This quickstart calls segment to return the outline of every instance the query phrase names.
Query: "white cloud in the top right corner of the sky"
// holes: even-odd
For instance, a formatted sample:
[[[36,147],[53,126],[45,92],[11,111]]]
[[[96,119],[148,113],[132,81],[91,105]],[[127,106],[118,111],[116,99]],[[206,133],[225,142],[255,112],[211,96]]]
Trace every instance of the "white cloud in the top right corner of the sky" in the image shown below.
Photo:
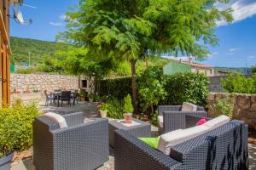
[[[219,9],[232,8],[234,10],[234,21],[238,22],[252,17],[256,14],[256,1],[255,0],[231,0],[229,4],[216,4]],[[217,22],[218,26],[225,26],[227,23],[224,20]]]

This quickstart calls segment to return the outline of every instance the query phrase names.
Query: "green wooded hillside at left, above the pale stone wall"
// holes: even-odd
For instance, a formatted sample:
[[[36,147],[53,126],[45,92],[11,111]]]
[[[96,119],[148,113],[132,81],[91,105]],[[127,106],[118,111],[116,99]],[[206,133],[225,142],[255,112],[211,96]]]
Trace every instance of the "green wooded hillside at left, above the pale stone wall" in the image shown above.
[[[57,49],[55,42],[20,37],[10,37],[10,46],[12,49],[11,63],[16,65],[28,62],[29,54],[31,64],[37,65],[45,55],[55,56]]]

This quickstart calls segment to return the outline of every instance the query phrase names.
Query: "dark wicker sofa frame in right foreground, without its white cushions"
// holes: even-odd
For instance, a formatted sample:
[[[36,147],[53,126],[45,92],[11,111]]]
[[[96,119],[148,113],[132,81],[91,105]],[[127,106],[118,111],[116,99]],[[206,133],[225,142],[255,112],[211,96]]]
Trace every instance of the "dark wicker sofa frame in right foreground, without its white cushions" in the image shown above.
[[[191,118],[191,119],[190,119]],[[196,121],[186,116],[186,127]],[[191,120],[191,122],[189,122]],[[233,120],[182,144],[170,156],[123,130],[114,136],[116,170],[247,170],[247,125]]]

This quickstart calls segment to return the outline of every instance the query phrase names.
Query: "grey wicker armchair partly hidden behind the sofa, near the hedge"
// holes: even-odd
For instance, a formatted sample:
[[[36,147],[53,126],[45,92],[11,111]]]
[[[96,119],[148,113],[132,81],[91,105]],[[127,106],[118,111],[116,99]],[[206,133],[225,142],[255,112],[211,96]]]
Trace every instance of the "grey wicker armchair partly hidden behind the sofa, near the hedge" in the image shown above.
[[[158,115],[163,116],[163,127],[159,125],[160,133],[168,133],[179,128],[186,128],[185,116],[195,115],[207,117],[204,107],[197,106],[197,111],[181,111],[182,105],[159,105]]]

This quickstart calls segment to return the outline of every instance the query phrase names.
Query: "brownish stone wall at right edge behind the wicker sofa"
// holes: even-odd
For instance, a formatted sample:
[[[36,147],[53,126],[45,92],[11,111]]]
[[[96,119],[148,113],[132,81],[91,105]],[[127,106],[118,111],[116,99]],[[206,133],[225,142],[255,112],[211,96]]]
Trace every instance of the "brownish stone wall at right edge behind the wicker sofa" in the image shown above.
[[[208,114],[212,116],[212,106],[219,99],[233,97],[235,105],[233,118],[245,121],[249,127],[256,130],[256,94],[222,94],[212,93],[208,96]]]

